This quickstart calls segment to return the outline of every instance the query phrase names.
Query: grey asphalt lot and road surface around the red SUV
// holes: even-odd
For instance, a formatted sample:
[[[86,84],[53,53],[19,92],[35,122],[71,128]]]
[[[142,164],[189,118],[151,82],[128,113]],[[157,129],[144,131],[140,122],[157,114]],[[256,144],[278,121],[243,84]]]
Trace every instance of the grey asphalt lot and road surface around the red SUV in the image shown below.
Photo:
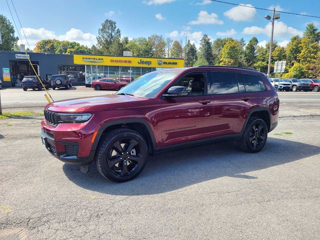
[[[50,92],[57,100],[109,91]],[[3,110],[41,111],[43,93],[2,89]],[[166,152],[125,183],[52,157],[42,116],[0,119],[0,237],[319,239],[320,92],[279,97],[279,124],[261,152],[233,142]]]

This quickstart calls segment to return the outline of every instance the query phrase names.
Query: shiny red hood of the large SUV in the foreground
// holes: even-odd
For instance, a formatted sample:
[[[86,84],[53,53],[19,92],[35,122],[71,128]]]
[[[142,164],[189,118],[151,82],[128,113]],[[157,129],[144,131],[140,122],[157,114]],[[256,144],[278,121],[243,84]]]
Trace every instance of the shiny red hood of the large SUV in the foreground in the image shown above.
[[[94,112],[132,106],[133,102],[146,100],[144,97],[108,94],[54,101],[45,109],[56,112]]]

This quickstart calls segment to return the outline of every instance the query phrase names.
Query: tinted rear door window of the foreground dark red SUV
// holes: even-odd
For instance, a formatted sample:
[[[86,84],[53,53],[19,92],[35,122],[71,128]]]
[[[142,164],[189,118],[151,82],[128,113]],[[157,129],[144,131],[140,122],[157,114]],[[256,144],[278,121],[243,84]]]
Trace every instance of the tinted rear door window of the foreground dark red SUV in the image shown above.
[[[238,93],[238,82],[234,72],[211,71],[208,94]]]

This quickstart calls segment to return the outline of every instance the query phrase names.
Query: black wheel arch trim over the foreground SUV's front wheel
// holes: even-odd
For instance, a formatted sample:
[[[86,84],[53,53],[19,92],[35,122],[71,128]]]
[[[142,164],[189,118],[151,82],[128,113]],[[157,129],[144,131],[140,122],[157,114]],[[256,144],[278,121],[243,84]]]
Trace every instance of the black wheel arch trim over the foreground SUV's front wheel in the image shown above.
[[[91,151],[95,151],[103,134],[107,134],[112,129],[118,127],[127,127],[138,133],[140,133],[146,141],[148,146],[148,153],[153,154],[154,149],[156,149],[156,141],[154,138],[153,131],[147,122],[147,120],[142,118],[128,118],[120,120],[112,120],[104,123],[98,130],[96,137],[92,143]]]

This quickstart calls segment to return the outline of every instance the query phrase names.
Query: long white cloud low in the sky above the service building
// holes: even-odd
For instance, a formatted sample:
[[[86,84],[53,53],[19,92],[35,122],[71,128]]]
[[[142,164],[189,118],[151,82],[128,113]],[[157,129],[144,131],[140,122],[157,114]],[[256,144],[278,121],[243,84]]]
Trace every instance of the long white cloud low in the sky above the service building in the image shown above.
[[[58,40],[68,40],[68,41],[76,41],[80,44],[91,46],[92,44],[96,43],[96,37],[94,34],[91,34],[89,32],[83,33],[80,29],[71,28],[65,34],[57,36],[54,31],[47,30],[43,27],[35,29],[31,27],[23,27],[23,31],[25,33],[25,36],[30,44],[30,48],[33,49],[35,47],[35,43],[39,40],[43,39],[58,39]],[[23,34],[21,29],[21,34]],[[25,44],[25,47],[27,46],[27,43],[24,40],[19,40],[18,44]]]

